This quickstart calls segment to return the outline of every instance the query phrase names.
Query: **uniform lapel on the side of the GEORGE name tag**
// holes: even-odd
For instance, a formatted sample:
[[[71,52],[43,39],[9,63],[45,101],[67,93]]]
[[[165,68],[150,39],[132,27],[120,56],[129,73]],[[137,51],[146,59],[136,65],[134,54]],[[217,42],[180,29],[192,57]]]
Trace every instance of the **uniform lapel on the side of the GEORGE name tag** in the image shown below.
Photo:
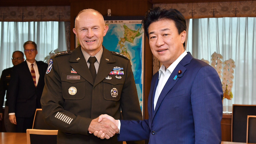
[[[81,46],[74,49],[69,59],[69,62],[73,62],[71,67],[74,68],[80,76],[82,76],[86,81],[93,85],[93,79],[90,70],[84,59],[84,55],[81,51]]]

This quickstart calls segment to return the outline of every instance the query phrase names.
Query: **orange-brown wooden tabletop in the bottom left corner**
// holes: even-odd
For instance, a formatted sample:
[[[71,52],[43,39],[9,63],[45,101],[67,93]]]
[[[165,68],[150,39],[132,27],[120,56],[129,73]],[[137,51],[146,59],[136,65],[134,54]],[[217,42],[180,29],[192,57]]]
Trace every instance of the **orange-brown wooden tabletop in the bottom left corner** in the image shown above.
[[[27,133],[0,132],[0,144],[27,144]]]

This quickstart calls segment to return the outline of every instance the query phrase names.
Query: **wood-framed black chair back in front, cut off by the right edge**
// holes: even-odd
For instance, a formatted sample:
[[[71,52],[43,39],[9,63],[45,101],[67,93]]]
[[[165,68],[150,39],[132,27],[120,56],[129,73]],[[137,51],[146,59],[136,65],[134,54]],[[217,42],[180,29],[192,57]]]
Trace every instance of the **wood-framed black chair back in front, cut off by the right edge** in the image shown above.
[[[256,116],[247,116],[246,143],[256,143]]]

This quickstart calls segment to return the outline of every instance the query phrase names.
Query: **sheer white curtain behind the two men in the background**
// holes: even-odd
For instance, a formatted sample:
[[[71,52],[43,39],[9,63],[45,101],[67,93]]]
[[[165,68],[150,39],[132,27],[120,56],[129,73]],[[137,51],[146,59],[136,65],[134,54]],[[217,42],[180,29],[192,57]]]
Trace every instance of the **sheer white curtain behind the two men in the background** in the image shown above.
[[[12,67],[12,52],[24,53],[23,44],[34,41],[37,45],[37,61],[44,61],[50,52],[66,51],[64,22],[0,22],[0,72]],[[58,49],[58,50],[56,50]],[[25,55],[24,58],[26,59]],[[47,62],[46,62],[47,63]]]

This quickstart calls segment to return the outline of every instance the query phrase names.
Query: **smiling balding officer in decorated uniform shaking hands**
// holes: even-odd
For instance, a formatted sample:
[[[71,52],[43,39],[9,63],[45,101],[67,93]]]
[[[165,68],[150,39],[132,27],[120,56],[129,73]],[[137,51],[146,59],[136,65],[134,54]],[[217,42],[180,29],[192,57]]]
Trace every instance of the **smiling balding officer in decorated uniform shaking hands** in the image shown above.
[[[114,123],[95,119],[102,113],[142,120],[131,62],[102,46],[107,31],[100,12],[79,12],[73,32],[80,46],[50,60],[41,105],[45,122],[59,130],[58,144],[122,144],[117,141]],[[108,130],[111,126],[114,128]],[[108,138],[115,136],[101,140],[90,134],[100,129],[107,130],[103,131]]]

